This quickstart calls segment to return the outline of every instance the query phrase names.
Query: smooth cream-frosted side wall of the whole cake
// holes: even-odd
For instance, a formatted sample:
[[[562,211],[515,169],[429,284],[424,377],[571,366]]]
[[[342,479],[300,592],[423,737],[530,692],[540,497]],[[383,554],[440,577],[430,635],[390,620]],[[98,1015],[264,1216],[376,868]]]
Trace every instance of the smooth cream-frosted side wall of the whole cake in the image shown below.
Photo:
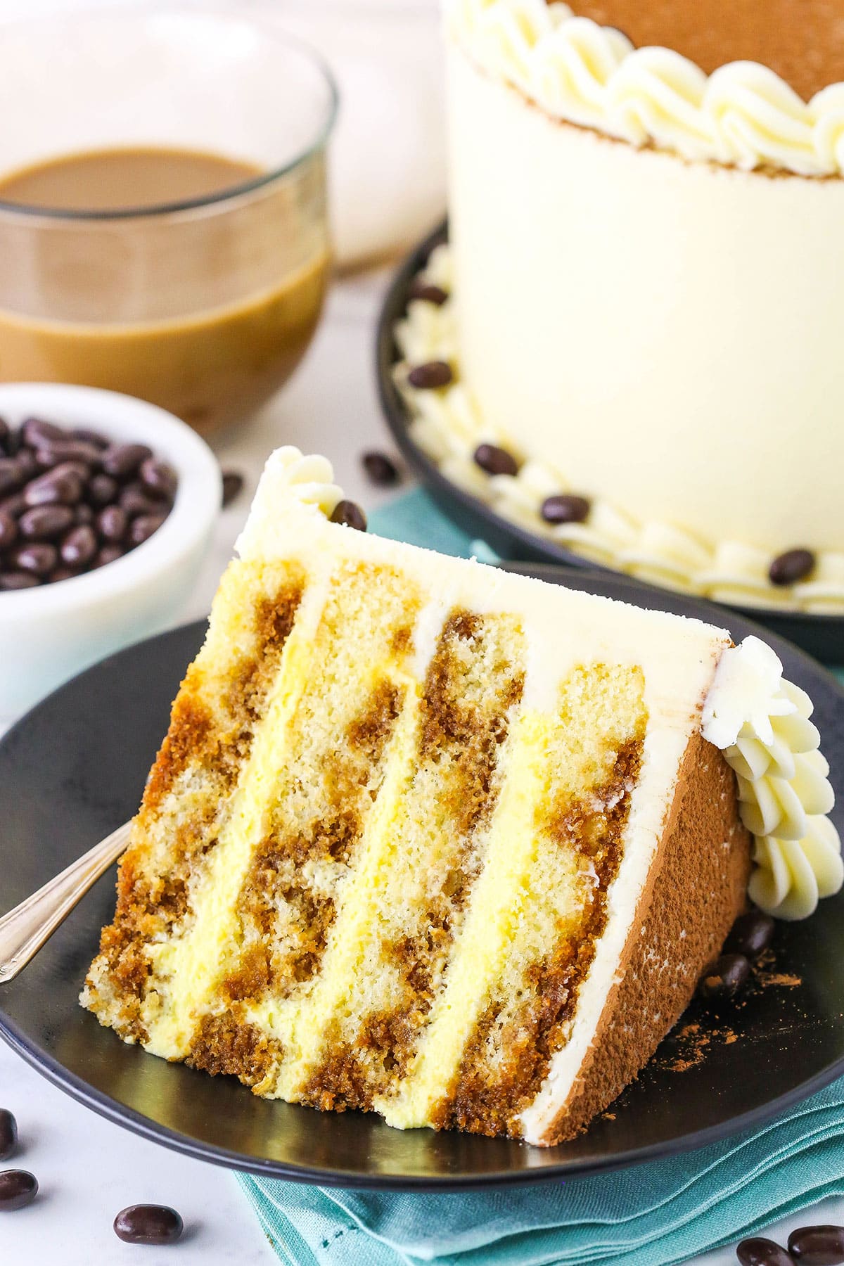
[[[844,182],[638,151],[449,61],[461,370],[490,432],[704,551],[840,558]]]

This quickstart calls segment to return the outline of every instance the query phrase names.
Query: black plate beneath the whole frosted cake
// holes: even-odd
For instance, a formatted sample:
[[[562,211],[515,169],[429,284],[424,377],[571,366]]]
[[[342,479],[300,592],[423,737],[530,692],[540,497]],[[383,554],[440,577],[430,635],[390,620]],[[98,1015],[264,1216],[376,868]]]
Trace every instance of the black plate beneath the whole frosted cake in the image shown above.
[[[407,256],[390,285],[378,318],[376,338],[378,395],[396,446],[449,519],[471,537],[480,537],[488,542],[501,558],[524,562],[554,562],[566,567],[577,567],[581,571],[599,571],[607,576],[624,575],[611,567],[599,567],[573,549],[567,549],[564,546],[529,532],[528,528],[496,514],[485,501],[472,496],[466,489],[447,479],[437,463],[410,438],[407,408],[392,379],[392,368],[399,358],[392,332],[396,322],[404,316],[407,308],[410,282],[424,267],[434,247],[447,239],[448,225],[440,224]],[[630,577],[625,576],[626,579]],[[667,592],[673,592],[673,590],[667,590]],[[755,606],[724,605],[728,610],[738,611],[758,624],[764,624],[772,633],[778,633],[779,637],[796,642],[804,651],[826,663],[844,663],[844,615],[812,615],[804,611],[776,611]]]

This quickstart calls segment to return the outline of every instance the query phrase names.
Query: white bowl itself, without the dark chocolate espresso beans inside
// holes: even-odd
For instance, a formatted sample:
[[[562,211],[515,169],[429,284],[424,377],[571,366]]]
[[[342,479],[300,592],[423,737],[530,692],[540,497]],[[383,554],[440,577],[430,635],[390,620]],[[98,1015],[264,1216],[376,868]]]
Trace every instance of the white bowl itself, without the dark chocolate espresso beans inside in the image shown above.
[[[8,722],[96,660],[173,622],[205,555],[221,479],[213,452],[190,427],[115,391],[3,384],[0,417],[13,429],[39,417],[149,444],[178,475],[173,509],[130,553],[72,580],[0,592],[0,720]]]

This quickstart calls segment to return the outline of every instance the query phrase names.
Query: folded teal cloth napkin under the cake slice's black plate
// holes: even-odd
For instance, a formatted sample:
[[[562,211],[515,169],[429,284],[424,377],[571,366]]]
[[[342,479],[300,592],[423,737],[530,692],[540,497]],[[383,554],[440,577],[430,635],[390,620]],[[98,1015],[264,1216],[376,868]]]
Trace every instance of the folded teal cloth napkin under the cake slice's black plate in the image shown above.
[[[378,536],[483,557],[421,490]],[[289,1266],[671,1266],[844,1195],[844,1077],[755,1132],[617,1174],[456,1194],[238,1179]]]

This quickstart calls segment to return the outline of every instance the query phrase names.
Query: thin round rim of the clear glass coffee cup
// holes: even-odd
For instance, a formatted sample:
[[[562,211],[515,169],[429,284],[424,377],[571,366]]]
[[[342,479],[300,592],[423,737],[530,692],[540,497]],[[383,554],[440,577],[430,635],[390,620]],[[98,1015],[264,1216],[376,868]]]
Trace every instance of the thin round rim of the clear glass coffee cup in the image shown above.
[[[101,18],[108,15],[111,19],[137,20],[138,16],[167,16],[178,15],[180,18],[228,18],[235,22],[247,23],[249,27],[259,29],[262,35],[275,39],[278,44],[287,47],[289,49],[295,49],[297,53],[302,54],[306,61],[314,67],[320,75],[325,89],[328,90],[325,114],[319,127],[316,128],[314,138],[302,147],[297,153],[294,154],[289,162],[282,163],[280,167],[271,167],[267,171],[262,171],[259,175],[251,177],[249,180],[238,181],[234,185],[227,185],[214,194],[204,194],[201,197],[185,197],[171,203],[153,203],[143,206],[119,206],[108,210],[102,209],[86,209],[75,208],[72,210],[57,206],[40,206],[35,203],[8,203],[0,197],[0,214],[4,215],[20,215],[27,219],[46,219],[46,220],[59,220],[59,222],[97,222],[97,220],[129,220],[129,219],[142,219],[142,218],[154,218],[158,215],[173,215],[180,211],[194,211],[202,210],[204,208],[215,206],[218,204],[228,203],[235,197],[240,197],[244,194],[254,192],[263,189],[266,185],[271,185],[273,181],[280,180],[283,176],[289,176],[292,171],[300,167],[302,163],[307,162],[321,149],[325,148],[328,139],[334,129],[337,122],[337,114],[339,109],[340,94],[337,86],[337,78],[334,72],[329,67],[326,60],[315,48],[311,47],[306,41],[300,39],[297,35],[291,35],[285,30],[270,30],[267,25],[261,23],[261,11],[253,10],[248,15],[234,14],[230,10],[218,9],[218,8],[202,8],[197,9],[191,4],[163,4],[163,5],[149,5],[138,8],[125,8],[125,9],[111,9],[104,4],[89,4],[82,10],[73,11],[73,24],[76,25],[80,20],[90,18]],[[48,15],[39,15],[38,18],[20,18],[6,24],[8,30],[22,30],[27,27],[37,25],[54,25],[56,20],[65,18],[63,13],[53,13]],[[118,147],[119,148],[119,147]],[[130,147],[128,147],[130,148]],[[176,147],[164,147],[176,148]],[[25,170],[25,168],[19,168]]]

